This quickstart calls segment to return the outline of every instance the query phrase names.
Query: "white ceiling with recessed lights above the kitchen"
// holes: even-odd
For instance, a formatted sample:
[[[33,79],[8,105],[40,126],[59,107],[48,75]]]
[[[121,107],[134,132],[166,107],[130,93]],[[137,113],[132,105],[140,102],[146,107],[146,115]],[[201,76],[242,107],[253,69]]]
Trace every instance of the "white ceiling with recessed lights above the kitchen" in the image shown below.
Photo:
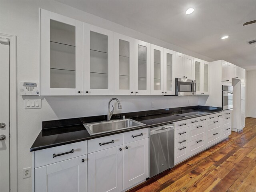
[[[242,26],[256,20],[256,0],[59,2],[204,56],[256,69],[256,44],[247,44],[256,39],[256,23]],[[186,15],[190,7],[195,11]],[[224,35],[229,38],[221,40]]]

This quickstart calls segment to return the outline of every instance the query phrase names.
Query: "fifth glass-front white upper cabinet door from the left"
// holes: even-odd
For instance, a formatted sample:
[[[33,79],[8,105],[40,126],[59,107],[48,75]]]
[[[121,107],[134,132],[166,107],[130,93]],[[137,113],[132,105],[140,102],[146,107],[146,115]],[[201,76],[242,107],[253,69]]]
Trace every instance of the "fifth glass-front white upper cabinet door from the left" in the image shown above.
[[[164,48],[150,45],[150,94],[164,94]]]

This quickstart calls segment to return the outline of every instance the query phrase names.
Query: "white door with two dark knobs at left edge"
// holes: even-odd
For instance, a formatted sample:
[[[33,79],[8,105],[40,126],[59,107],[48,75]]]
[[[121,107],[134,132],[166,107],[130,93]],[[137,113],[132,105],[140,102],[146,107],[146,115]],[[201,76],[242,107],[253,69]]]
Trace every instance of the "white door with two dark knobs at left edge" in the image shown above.
[[[9,41],[0,40],[0,191],[10,191]]]

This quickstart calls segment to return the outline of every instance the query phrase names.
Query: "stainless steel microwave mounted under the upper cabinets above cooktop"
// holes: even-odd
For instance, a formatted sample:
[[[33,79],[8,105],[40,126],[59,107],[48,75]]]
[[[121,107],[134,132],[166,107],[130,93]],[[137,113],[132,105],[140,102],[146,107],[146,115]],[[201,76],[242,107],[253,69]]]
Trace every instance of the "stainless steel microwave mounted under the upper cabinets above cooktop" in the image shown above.
[[[175,78],[175,95],[192,96],[196,95],[196,80]]]

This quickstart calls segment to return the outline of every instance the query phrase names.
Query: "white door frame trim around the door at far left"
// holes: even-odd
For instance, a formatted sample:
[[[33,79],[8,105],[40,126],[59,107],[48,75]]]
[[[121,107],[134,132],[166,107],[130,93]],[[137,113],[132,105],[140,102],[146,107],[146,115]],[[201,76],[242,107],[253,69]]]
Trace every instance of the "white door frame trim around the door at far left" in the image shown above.
[[[17,135],[17,36],[0,33],[10,41],[10,191],[18,191],[18,135]]]

